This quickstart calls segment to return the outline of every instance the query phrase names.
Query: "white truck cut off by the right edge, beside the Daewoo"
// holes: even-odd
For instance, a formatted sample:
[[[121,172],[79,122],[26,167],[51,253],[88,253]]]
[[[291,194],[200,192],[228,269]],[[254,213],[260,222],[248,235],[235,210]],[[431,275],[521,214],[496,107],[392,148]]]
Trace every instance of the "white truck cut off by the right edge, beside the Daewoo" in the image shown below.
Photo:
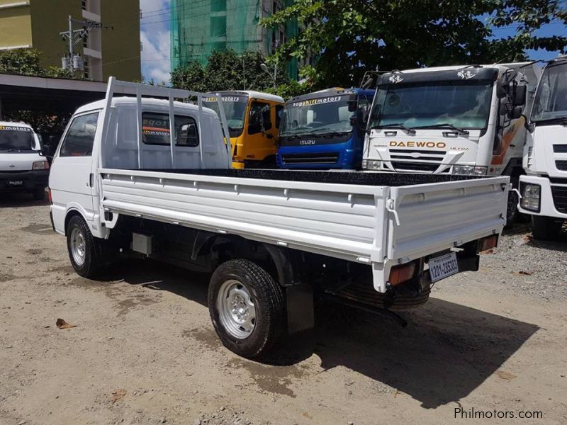
[[[519,210],[536,239],[556,239],[567,220],[567,57],[544,68],[530,118]]]

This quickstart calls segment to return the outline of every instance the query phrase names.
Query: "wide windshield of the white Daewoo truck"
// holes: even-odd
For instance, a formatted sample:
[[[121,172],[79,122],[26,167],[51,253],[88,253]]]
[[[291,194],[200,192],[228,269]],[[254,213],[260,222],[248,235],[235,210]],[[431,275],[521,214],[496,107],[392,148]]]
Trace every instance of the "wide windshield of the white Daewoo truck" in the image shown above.
[[[369,128],[450,124],[482,129],[488,125],[493,81],[434,81],[380,86]]]

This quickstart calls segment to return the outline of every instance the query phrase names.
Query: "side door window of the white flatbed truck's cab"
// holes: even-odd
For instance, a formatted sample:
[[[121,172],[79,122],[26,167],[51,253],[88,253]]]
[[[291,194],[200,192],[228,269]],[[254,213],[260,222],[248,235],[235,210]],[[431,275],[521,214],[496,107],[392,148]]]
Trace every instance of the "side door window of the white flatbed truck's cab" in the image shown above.
[[[90,157],[99,113],[88,113],[74,118],[61,145],[60,157]]]

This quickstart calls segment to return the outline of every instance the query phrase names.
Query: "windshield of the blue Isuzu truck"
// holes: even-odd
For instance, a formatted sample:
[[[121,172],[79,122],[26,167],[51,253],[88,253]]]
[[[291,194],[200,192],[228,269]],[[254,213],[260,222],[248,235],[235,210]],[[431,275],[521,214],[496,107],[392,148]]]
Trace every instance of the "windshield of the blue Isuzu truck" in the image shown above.
[[[350,132],[350,96],[330,96],[286,104],[280,136]]]

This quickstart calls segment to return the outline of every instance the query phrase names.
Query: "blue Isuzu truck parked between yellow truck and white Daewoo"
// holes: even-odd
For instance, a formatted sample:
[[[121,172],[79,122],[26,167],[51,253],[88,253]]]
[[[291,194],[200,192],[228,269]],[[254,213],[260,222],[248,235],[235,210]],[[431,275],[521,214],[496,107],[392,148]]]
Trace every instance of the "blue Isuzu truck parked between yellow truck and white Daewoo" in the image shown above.
[[[282,169],[360,169],[374,90],[332,88],[291,98],[281,115]]]

